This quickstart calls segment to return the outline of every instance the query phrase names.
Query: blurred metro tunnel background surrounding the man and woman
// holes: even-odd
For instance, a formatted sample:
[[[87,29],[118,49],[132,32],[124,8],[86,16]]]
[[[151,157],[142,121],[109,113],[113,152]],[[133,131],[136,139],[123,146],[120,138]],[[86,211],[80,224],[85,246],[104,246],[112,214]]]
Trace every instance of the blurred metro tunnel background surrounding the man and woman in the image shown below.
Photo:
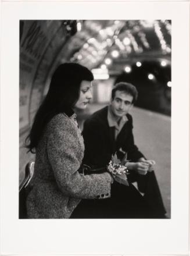
[[[135,144],[156,162],[155,174],[166,216],[171,201],[171,21],[20,20],[19,184],[35,154],[26,137],[48,92],[56,67],[79,63],[94,74],[92,99],[77,122],[110,104],[112,88],[133,84],[138,99],[131,109]],[[134,186],[135,183],[134,183]]]

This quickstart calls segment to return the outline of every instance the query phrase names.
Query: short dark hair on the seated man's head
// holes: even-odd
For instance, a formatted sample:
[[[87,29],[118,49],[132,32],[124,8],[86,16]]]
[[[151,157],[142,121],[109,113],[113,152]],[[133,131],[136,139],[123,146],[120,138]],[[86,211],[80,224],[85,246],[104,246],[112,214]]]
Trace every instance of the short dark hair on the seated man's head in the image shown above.
[[[116,91],[123,91],[126,94],[130,94],[133,97],[132,104],[134,104],[137,101],[138,91],[136,87],[130,83],[117,83],[112,89],[112,99],[114,99]]]

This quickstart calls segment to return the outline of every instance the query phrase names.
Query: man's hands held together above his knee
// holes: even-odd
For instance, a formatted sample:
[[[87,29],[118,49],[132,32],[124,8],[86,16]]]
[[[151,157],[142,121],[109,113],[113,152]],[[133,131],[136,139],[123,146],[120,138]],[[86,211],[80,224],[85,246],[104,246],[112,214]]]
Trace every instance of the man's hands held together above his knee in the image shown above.
[[[145,158],[138,159],[138,162],[127,162],[128,170],[135,170],[140,175],[146,175],[147,172],[152,172],[155,161],[146,160]]]

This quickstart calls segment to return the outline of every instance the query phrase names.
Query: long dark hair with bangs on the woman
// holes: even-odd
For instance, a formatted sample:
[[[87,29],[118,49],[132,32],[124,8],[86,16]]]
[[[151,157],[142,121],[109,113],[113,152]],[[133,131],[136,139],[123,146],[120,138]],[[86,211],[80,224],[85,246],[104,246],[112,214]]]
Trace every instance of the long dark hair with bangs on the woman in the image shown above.
[[[78,63],[64,63],[58,66],[26,138],[28,151],[35,153],[33,150],[38,145],[42,131],[53,116],[60,112],[65,112],[68,116],[74,113],[73,107],[79,98],[80,84],[83,80],[94,80],[92,72],[87,67]]]

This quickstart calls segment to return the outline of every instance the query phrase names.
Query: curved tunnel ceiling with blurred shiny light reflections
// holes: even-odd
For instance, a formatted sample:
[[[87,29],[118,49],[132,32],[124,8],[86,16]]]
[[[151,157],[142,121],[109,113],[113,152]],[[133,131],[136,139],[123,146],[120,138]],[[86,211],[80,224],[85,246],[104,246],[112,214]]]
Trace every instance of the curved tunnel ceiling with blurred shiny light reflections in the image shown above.
[[[70,61],[93,68],[109,58],[110,70],[120,70],[124,63],[163,56],[170,62],[170,20],[78,20],[77,24],[81,30],[76,29],[70,47],[78,45],[78,49]]]

